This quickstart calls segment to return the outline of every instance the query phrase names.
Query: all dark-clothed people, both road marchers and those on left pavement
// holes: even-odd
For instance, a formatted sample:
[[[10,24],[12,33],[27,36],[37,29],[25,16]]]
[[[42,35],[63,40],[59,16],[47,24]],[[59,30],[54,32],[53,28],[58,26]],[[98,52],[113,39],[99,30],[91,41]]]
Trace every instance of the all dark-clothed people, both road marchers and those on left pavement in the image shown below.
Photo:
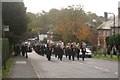
[[[46,56],[48,61],[51,60],[51,56],[54,55],[55,58],[58,58],[58,60],[63,60],[63,55],[65,55],[69,60],[75,60],[75,57],[77,60],[81,57],[84,61],[85,53],[86,53],[86,43],[82,42],[80,45],[79,43],[68,43],[66,46],[64,46],[64,43],[62,41],[59,41],[58,43],[51,45],[50,43],[47,44],[41,44],[37,43],[34,45],[29,45],[28,43],[22,43],[16,44],[14,46],[14,53],[15,56],[22,55],[28,58],[28,52],[32,52],[34,50],[36,53],[38,53],[41,56]],[[82,52],[82,55],[80,56],[80,51]]]

